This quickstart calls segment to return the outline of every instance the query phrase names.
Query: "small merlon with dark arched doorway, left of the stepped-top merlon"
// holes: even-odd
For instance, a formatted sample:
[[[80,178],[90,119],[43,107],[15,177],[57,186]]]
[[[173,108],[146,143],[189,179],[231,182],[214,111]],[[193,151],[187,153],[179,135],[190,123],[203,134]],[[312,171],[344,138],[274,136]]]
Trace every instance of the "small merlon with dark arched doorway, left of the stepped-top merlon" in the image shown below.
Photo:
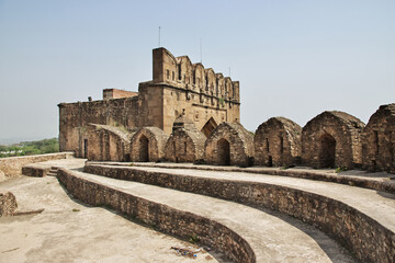
[[[169,136],[158,127],[140,128],[131,141],[132,161],[158,161],[165,157],[165,146]]]

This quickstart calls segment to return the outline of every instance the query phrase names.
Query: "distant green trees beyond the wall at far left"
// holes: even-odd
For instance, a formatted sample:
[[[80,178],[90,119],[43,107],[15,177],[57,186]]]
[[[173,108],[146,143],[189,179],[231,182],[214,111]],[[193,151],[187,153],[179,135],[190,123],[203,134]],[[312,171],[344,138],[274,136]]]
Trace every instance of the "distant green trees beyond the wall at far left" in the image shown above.
[[[59,151],[59,141],[57,138],[43,139],[36,141],[22,141],[16,145],[0,145],[0,158],[16,156],[34,156],[52,153]]]

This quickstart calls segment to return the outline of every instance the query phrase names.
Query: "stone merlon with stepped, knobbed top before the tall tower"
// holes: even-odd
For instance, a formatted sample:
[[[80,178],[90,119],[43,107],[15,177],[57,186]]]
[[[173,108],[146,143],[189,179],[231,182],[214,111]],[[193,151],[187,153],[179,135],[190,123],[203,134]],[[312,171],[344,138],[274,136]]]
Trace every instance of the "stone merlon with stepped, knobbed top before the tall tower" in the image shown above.
[[[194,162],[204,158],[206,137],[193,122],[182,116],[177,118],[165,148],[165,158],[171,162]]]

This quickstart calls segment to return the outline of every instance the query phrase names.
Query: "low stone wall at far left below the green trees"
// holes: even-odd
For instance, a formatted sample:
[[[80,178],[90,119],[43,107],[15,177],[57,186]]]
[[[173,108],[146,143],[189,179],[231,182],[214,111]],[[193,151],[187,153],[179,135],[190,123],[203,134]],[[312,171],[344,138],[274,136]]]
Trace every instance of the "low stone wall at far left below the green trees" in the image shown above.
[[[72,156],[74,152],[58,152],[58,153],[48,153],[48,155],[38,155],[38,156],[1,158],[0,172],[4,174],[3,179],[8,179],[21,174],[22,168],[30,163],[67,159]],[[0,181],[1,181],[1,176],[0,176]]]

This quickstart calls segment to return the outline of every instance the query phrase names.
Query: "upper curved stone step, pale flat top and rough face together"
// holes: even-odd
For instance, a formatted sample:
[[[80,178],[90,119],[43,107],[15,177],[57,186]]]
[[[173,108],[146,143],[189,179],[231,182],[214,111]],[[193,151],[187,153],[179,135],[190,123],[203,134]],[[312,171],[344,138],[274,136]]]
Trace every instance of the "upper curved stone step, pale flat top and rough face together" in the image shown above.
[[[100,164],[84,171],[280,210],[324,229],[362,261],[395,259],[394,194],[244,172]]]

